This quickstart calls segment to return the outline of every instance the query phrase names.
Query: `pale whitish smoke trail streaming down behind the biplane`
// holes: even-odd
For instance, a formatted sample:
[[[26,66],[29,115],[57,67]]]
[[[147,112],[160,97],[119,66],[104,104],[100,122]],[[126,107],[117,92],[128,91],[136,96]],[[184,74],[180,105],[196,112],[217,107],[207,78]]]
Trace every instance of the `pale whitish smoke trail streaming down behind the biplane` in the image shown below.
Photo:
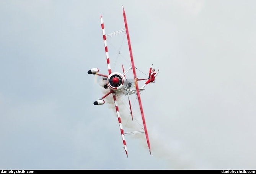
[[[101,90],[103,94],[109,92],[109,89],[104,89],[103,85],[106,81],[99,81],[99,85],[102,86]],[[126,97],[126,96],[125,96]],[[108,107],[116,112],[112,95],[108,95],[104,98],[105,102],[108,103]],[[127,99],[126,99],[127,100]],[[131,132],[136,130],[142,130],[140,121],[141,113],[139,109],[133,110],[134,121],[131,119],[130,110],[127,108],[127,103],[123,101],[122,96],[117,96],[117,102],[121,120],[125,132]],[[116,115],[115,115],[116,116]],[[137,122],[137,124],[135,124]],[[166,162],[166,166],[169,169],[209,169],[207,164],[196,159],[196,155],[193,155],[191,151],[186,149],[184,143],[179,140],[171,139],[170,135],[164,135],[163,127],[157,127],[157,125],[151,126],[153,129],[148,130],[151,152],[156,158],[163,159]],[[145,140],[145,134],[132,135],[132,138],[138,139],[145,149],[148,149]],[[204,168],[202,167],[204,166]]]

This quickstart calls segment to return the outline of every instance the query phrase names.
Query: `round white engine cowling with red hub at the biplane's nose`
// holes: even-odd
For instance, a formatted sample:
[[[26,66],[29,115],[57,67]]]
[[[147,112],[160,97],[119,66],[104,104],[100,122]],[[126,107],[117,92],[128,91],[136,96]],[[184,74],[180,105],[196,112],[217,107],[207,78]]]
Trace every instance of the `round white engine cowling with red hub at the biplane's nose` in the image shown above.
[[[107,84],[111,90],[118,91],[127,85],[127,80],[121,73],[111,73],[108,76]]]

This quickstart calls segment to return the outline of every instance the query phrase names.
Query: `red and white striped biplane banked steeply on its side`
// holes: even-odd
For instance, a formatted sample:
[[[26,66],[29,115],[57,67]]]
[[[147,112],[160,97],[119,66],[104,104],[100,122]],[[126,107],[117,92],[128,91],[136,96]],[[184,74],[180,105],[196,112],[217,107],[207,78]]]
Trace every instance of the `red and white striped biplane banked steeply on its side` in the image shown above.
[[[104,74],[100,74],[99,73],[99,69],[98,68],[92,68],[88,71],[88,74],[93,74],[93,75],[98,75],[103,77],[103,80],[105,82],[105,84],[103,85],[104,89],[109,90],[103,97],[101,97],[99,100],[94,101],[94,105],[103,105],[105,103],[105,101],[103,100],[104,98],[106,98],[109,95],[113,95],[113,101],[114,101],[114,106],[116,109],[116,114],[117,114],[117,118],[118,118],[118,122],[119,122],[119,127],[121,130],[121,135],[122,135],[122,141],[124,144],[124,150],[126,152],[126,155],[128,157],[128,153],[127,153],[127,145],[126,145],[126,139],[125,136],[126,135],[134,135],[134,134],[145,134],[145,138],[147,141],[147,146],[148,146],[148,150],[151,154],[151,150],[150,150],[150,142],[149,142],[149,138],[148,138],[148,132],[147,132],[147,126],[146,126],[146,122],[145,122],[145,116],[143,113],[143,107],[142,107],[142,101],[141,101],[141,97],[140,97],[140,92],[142,92],[144,89],[140,89],[139,85],[138,85],[138,81],[140,80],[145,80],[145,79],[138,79],[137,78],[137,74],[136,74],[136,68],[134,65],[134,58],[132,55],[132,47],[131,47],[131,43],[130,43],[130,36],[129,36],[129,30],[128,30],[128,26],[127,26],[127,19],[126,19],[126,13],[124,11],[124,6],[122,6],[122,11],[123,11],[123,16],[124,16],[124,26],[125,28],[117,31],[113,34],[118,34],[119,32],[124,32],[127,35],[127,44],[129,47],[129,57],[130,57],[130,68],[127,69],[126,71],[124,71],[124,67],[122,66],[122,73],[120,72],[112,72],[111,70],[111,64],[110,64],[110,59],[109,59],[109,52],[108,52],[108,36],[109,35],[113,35],[113,34],[109,34],[106,35],[105,32],[105,28],[104,28],[104,23],[103,23],[103,18],[101,15],[101,29],[102,29],[102,34],[103,34],[103,41],[104,41],[104,47],[105,47],[105,53],[106,53],[106,60],[107,60],[107,65],[108,65],[108,75],[104,75]],[[133,77],[132,80],[126,79],[126,74],[132,71]],[[134,84],[134,85],[132,85]],[[133,131],[133,132],[125,132],[123,125],[122,125],[122,121],[121,121],[121,114],[120,114],[120,110],[118,107],[118,98],[117,96],[119,95],[123,95],[123,96],[127,96],[128,100],[129,100],[129,109],[130,109],[130,114],[132,116],[132,107],[131,107],[131,102],[129,99],[129,95],[136,95],[136,100],[138,101],[137,103],[139,103],[139,108],[140,108],[140,114],[141,114],[141,119],[143,122],[143,126],[142,126],[142,130],[139,131]],[[133,117],[133,116],[132,116]]]

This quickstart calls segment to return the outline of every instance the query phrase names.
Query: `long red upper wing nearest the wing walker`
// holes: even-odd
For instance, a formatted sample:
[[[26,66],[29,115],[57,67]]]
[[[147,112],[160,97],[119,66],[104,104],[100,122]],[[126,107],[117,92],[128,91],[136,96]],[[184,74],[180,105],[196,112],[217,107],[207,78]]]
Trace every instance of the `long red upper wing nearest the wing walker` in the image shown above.
[[[130,45],[130,36],[129,36],[128,26],[127,26],[127,21],[126,21],[126,13],[124,11],[124,6],[122,6],[122,7],[123,7],[123,15],[124,15],[124,25],[126,27],[126,35],[127,35],[128,46],[129,46],[129,51],[130,51],[130,59],[131,59],[131,63],[132,63],[132,71],[133,71],[133,74],[134,74],[134,84],[136,86],[136,92],[137,92],[137,97],[138,97],[138,101],[139,101],[139,105],[140,105],[140,112],[141,112],[141,116],[142,116],[143,126],[144,126],[144,129],[145,129],[145,135],[146,135],[146,139],[147,139],[148,150],[151,154],[150,143],[149,143],[149,139],[148,139],[148,131],[147,131],[147,126],[146,126],[145,117],[144,117],[144,113],[143,113],[142,102],[141,102],[141,99],[140,99],[138,79],[137,79],[136,70],[135,70],[134,61],[133,61],[133,56],[132,56],[132,47]]]

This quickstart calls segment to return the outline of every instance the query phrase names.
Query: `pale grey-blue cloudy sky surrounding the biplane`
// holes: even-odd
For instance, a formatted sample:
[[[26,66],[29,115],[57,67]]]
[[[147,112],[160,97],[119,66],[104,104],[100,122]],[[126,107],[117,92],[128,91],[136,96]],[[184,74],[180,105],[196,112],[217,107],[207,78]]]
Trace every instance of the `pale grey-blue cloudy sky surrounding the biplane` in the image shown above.
[[[122,5],[135,65],[160,69],[141,93],[152,154],[127,137],[128,158],[87,74],[107,73],[100,15],[107,34],[123,29]],[[255,11],[253,0],[0,0],[0,168],[255,169]]]

